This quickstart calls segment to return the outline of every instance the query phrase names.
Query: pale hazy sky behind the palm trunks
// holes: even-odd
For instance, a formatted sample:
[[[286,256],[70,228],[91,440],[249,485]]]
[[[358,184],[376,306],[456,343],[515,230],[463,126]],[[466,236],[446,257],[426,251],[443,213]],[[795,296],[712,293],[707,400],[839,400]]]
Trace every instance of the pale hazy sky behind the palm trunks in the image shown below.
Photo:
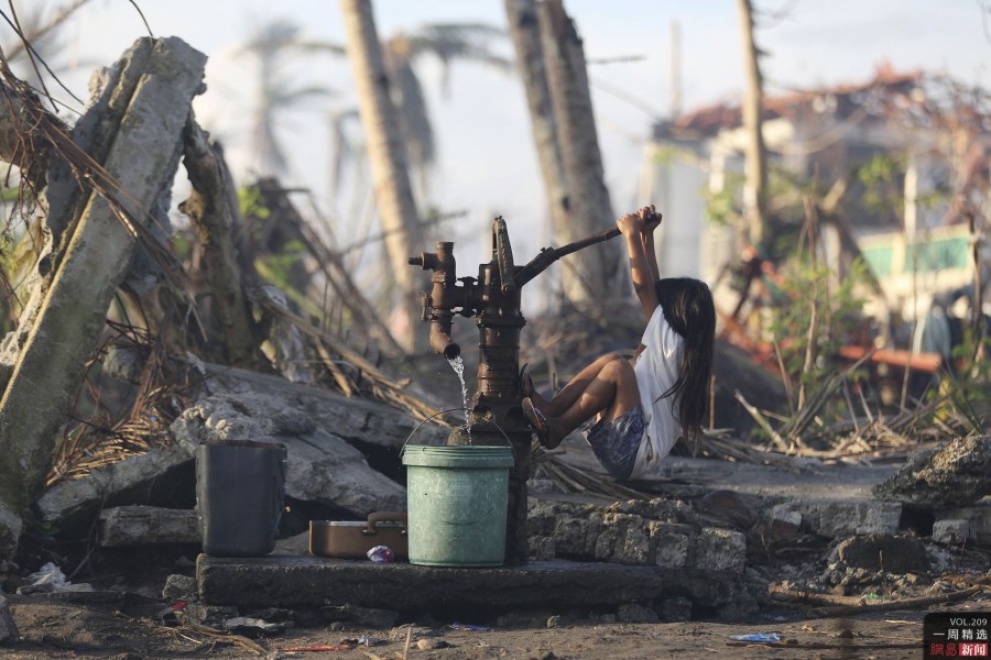
[[[259,24],[274,19],[298,23],[307,37],[344,42],[334,0],[138,0],[138,4],[155,35],[179,36],[209,56],[209,89],[197,99],[196,112],[200,123],[224,141],[239,182],[247,176],[254,63],[238,55],[237,46]],[[974,85],[991,82],[985,24],[991,21],[982,21],[991,16],[979,0],[755,0],[755,4],[769,13],[786,12],[762,23],[756,34],[767,52],[763,68],[771,94],[864,81],[885,59],[897,70],[947,72]],[[590,66],[607,183],[620,212],[638,201],[636,177],[651,114],[663,117],[671,107],[673,21],[682,33],[685,110],[739,98],[737,2],[565,0],[565,7],[590,61],[642,56]],[[374,12],[383,37],[425,23],[505,23],[502,0],[375,0]],[[90,0],[64,33],[72,58],[80,63],[79,75],[68,78],[76,94],[86,98],[89,72],[112,63],[143,34],[141,18],[128,0]],[[503,50],[510,53],[508,43]],[[301,59],[297,69],[295,75],[326,84],[336,95],[286,118],[283,138],[292,163],[283,180],[312,187],[323,204],[329,158],[326,117],[330,108],[355,106],[350,69],[330,57]],[[439,142],[434,198],[444,210],[467,211],[456,235],[436,238],[464,241],[486,231],[494,215],[502,215],[518,261],[527,260],[547,239],[536,229],[544,226],[544,199],[522,87],[511,76],[471,63],[455,64],[451,73],[450,94],[445,96],[439,68],[426,62],[421,69]],[[654,201],[663,209],[663,200]],[[338,222],[338,233],[347,242],[356,220]],[[477,261],[473,256],[464,255],[466,263]]]

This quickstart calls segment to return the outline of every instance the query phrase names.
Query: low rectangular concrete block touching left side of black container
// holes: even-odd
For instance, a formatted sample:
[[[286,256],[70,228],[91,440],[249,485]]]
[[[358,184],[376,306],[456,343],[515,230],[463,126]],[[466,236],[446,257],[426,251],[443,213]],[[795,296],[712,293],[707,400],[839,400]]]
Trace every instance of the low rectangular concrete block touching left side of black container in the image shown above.
[[[199,543],[199,519],[193,509],[118,506],[99,518],[100,546],[157,546]]]

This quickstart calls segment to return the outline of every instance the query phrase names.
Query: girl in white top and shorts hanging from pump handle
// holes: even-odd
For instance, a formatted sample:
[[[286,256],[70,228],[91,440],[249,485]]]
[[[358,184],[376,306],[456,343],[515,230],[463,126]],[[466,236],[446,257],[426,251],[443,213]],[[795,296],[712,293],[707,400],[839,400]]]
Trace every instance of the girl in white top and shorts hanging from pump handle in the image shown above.
[[[596,458],[612,476],[627,480],[656,471],[682,435],[701,432],[716,309],[704,282],[660,278],[653,234],[661,216],[653,206],[616,223],[647,320],[636,355],[598,358],[549,400],[526,376],[523,411],[547,449],[585,424]]]

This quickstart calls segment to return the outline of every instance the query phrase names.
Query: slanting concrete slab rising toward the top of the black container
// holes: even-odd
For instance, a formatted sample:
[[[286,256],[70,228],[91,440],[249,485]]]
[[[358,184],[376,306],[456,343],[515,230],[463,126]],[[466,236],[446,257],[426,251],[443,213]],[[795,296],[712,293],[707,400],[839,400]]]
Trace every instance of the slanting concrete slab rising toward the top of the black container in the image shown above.
[[[192,451],[181,444],[152,449],[97,468],[83,479],[58,482],[37,499],[35,507],[46,522],[64,520],[80,512],[95,510],[127,490],[160,480],[167,471],[190,460]]]

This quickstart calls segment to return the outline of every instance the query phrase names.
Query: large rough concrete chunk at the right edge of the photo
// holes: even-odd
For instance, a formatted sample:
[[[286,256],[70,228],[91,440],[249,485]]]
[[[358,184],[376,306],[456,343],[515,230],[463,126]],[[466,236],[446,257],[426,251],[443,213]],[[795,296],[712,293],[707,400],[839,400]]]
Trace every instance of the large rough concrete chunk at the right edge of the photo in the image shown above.
[[[957,438],[916,452],[874,495],[932,508],[960,507],[991,495],[991,436]]]

